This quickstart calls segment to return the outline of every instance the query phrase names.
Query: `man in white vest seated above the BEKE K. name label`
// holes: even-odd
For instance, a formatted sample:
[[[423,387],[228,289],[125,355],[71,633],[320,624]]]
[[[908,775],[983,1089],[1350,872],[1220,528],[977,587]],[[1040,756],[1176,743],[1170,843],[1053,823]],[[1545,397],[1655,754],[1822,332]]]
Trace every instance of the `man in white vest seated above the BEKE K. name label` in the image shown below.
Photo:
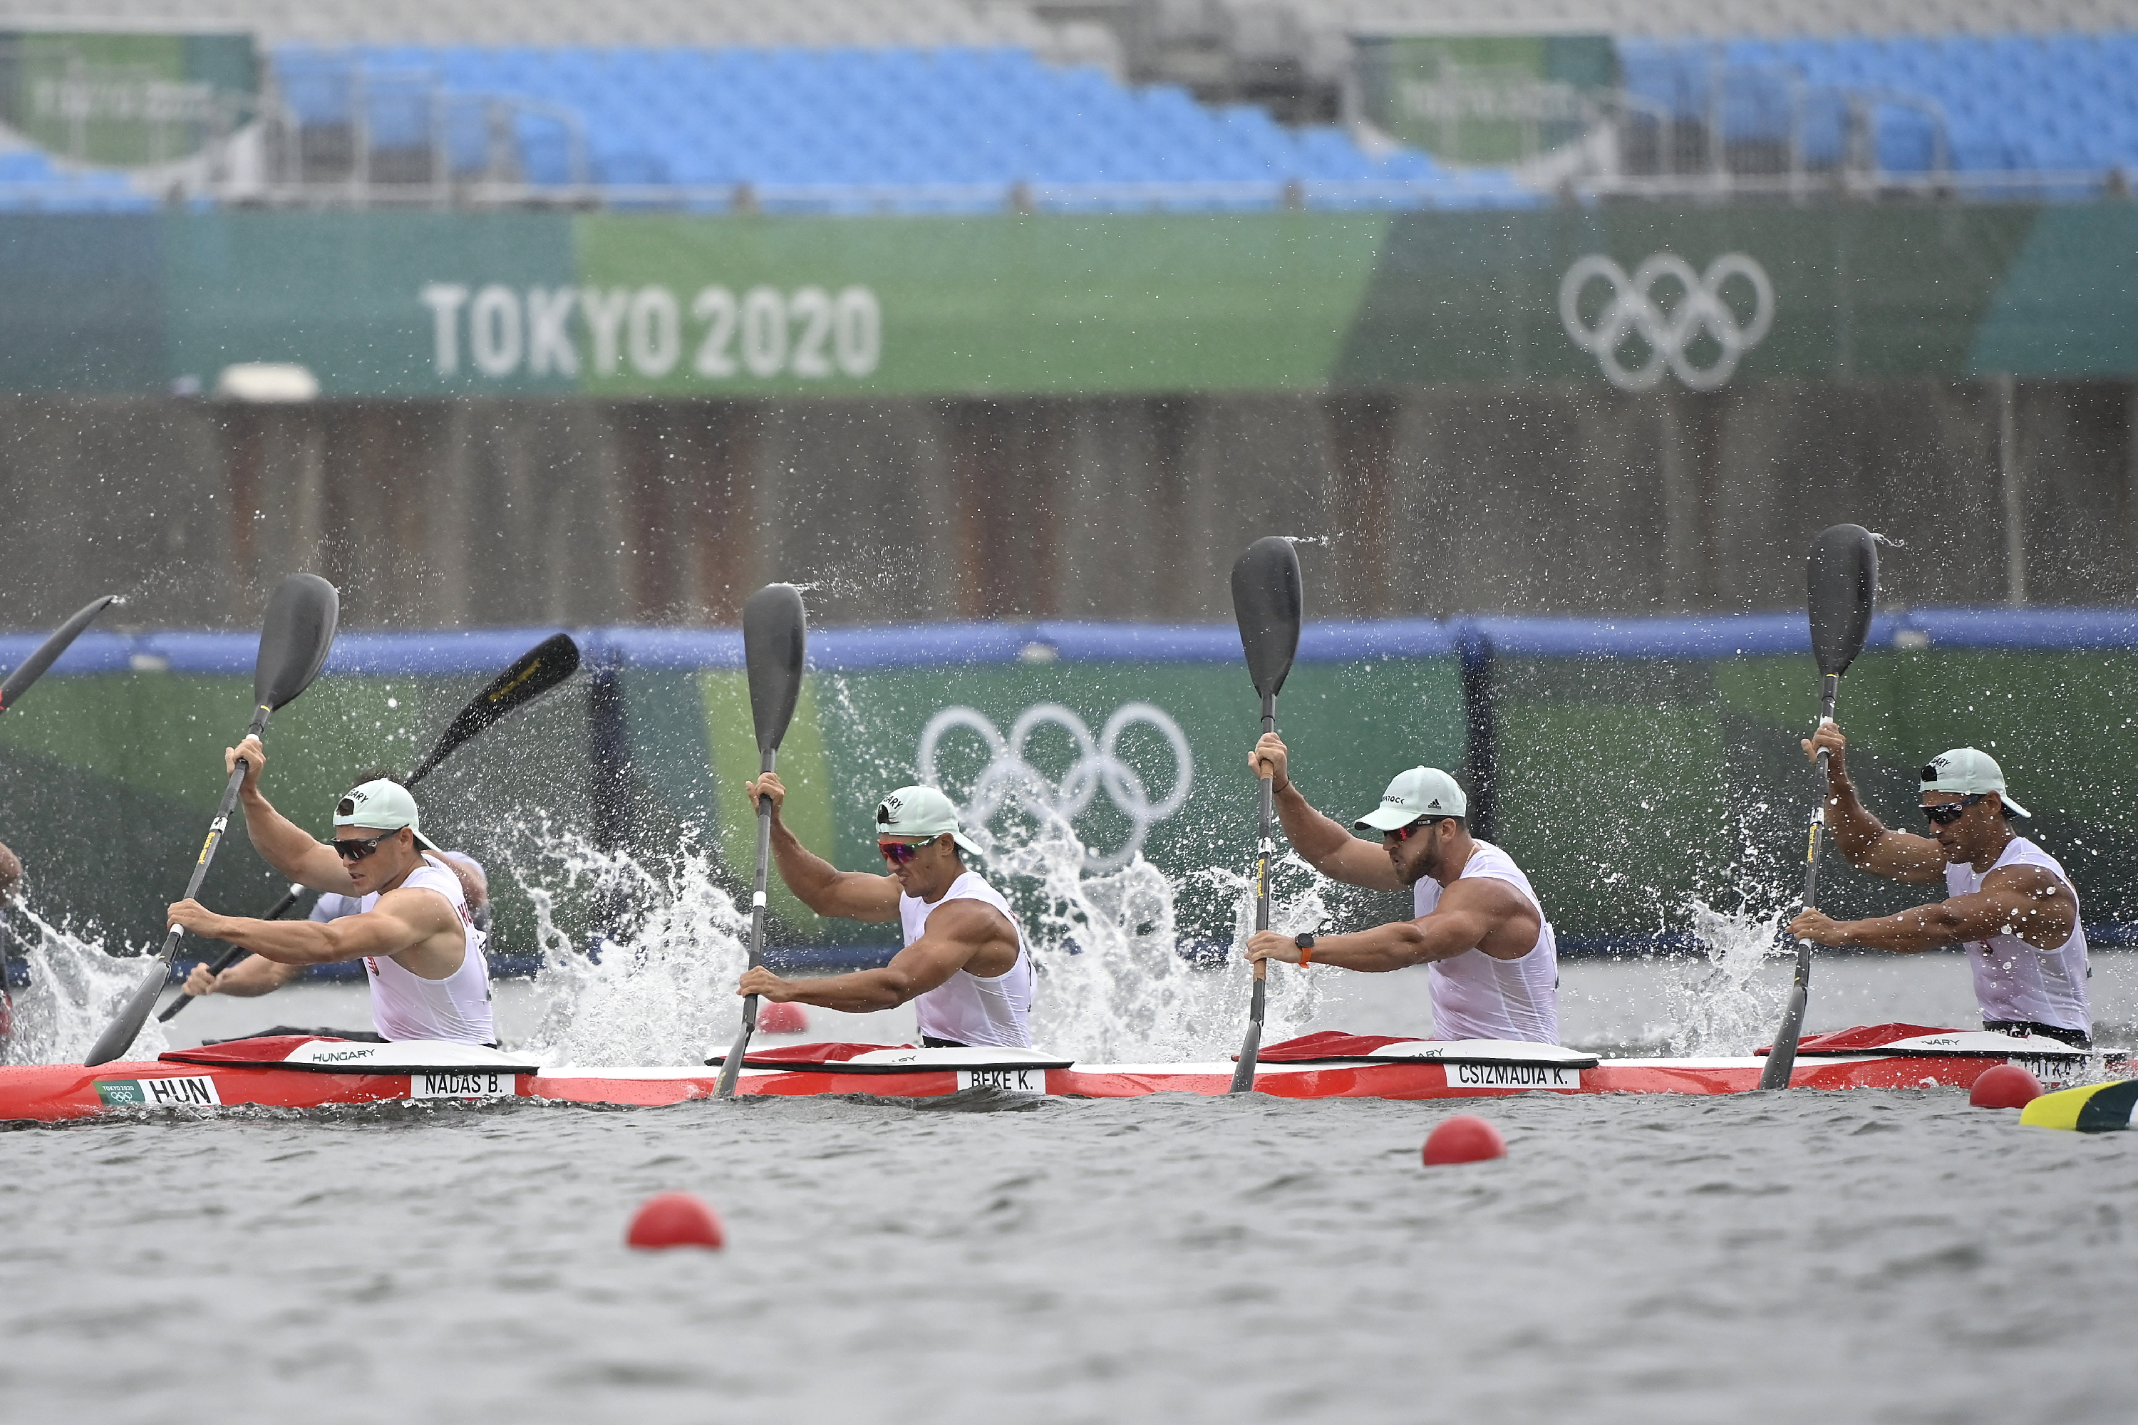
[[[772,855],[780,880],[817,914],[900,921],[907,944],[881,970],[787,981],[748,970],[735,993],[868,1015],[913,1002],[928,1049],[1031,1049],[1033,957],[1003,893],[964,865],[979,855],[958,829],[958,808],[932,786],[900,786],[877,808],[885,876],[842,872],[810,852],[780,820],[787,788],[765,773],[750,805],[772,797]]]

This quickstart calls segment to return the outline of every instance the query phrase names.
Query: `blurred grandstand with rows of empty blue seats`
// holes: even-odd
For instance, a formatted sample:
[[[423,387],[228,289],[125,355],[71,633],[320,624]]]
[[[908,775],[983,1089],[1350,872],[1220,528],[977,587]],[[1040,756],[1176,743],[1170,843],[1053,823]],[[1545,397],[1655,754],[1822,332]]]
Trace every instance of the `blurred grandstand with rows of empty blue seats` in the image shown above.
[[[2138,0],[0,0],[0,30],[265,60],[180,160],[0,135],[4,209],[2085,199],[2138,169]],[[1599,79],[1377,68],[1512,34],[1591,38]]]

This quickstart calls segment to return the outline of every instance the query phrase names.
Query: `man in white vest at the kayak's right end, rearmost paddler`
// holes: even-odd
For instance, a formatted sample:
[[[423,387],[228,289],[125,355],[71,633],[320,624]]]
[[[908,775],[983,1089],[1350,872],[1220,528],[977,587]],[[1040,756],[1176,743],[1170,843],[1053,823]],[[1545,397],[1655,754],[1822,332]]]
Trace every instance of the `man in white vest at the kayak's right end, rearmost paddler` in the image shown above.
[[[1901,955],[1965,944],[1984,1030],[2093,1047],[2078,891],[2052,855],[2012,833],[2012,816],[2033,814],[2005,793],[1997,758],[1978,748],[1939,752],[1918,778],[1931,835],[1909,835],[1888,831],[1856,797],[1839,726],[1822,722],[1802,746],[1832,754],[1826,825],[1849,865],[1903,884],[1941,878],[1946,899],[1871,921],[1804,910],[1790,934]]]

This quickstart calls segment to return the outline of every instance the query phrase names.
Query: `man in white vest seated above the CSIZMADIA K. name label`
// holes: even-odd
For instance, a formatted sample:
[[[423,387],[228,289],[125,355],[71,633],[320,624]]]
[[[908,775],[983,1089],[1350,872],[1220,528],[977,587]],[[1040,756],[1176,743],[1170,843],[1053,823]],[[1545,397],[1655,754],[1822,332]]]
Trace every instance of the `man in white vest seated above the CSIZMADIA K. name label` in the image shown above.
[[[1499,846],[1471,837],[1469,799],[1437,767],[1411,767],[1360,816],[1375,846],[1317,812],[1289,778],[1276,733],[1249,754],[1276,782],[1276,812],[1291,848],[1317,872],[1368,891],[1411,889],[1415,921],[1349,936],[1249,938],[1246,957],[1345,970],[1426,966],[1435,1038],[1559,1043],[1559,940],[1529,876]]]

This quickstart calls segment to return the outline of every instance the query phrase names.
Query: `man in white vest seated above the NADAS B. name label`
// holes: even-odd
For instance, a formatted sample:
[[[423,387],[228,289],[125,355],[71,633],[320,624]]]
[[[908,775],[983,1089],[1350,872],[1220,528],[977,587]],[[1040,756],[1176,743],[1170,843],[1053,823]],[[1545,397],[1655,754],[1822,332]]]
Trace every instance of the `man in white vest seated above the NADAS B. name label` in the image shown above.
[[[387,1040],[496,1043],[485,936],[460,878],[423,840],[408,788],[383,778],[351,788],[334,808],[334,842],[321,844],[261,795],[267,754],[259,739],[224,752],[224,765],[239,756],[248,763],[239,795],[246,833],[267,865],[314,891],[355,895],[361,910],[325,923],[254,921],[186,899],[171,906],[171,925],[278,964],[361,959],[372,1025]]]

